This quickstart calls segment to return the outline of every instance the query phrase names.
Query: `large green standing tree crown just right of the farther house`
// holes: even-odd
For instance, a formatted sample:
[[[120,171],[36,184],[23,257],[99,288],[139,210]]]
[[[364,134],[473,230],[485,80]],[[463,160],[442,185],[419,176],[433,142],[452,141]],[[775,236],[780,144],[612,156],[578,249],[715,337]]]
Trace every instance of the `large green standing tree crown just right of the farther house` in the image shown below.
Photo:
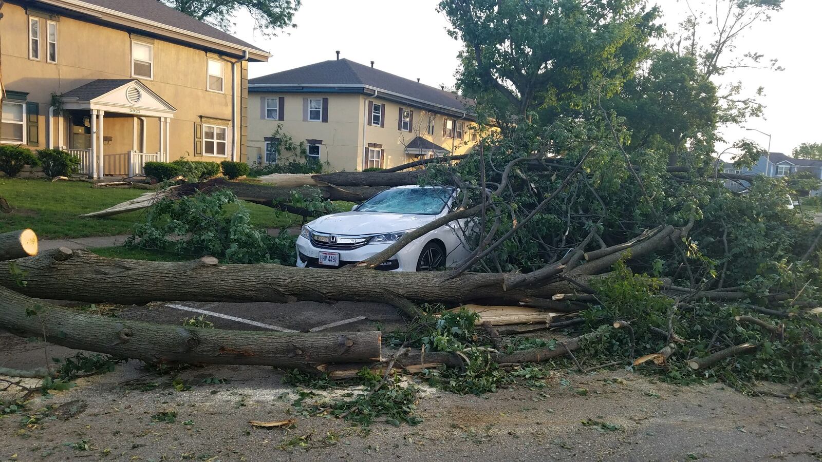
[[[464,43],[459,89],[496,107],[498,120],[578,109],[591,81],[617,89],[647,55],[658,16],[639,0],[443,0],[438,9]]]

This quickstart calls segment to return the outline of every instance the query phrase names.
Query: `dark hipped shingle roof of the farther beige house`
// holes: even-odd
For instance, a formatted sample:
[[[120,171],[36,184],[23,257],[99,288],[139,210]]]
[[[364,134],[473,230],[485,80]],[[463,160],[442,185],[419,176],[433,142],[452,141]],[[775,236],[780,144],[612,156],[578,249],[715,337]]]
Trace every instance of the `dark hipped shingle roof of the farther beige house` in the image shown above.
[[[349,59],[316,62],[248,81],[249,91],[364,93],[472,118],[474,101]],[[427,107],[429,106],[429,107]]]

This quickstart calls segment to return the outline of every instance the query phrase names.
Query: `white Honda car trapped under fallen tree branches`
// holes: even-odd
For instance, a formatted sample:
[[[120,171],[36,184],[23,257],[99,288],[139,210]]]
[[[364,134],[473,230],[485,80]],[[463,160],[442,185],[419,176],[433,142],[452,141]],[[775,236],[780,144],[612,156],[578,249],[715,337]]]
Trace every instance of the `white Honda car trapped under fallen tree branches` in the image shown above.
[[[408,233],[446,215],[457,191],[451,187],[386,189],[350,212],[322,216],[297,238],[297,266],[339,268],[381,252]],[[465,219],[445,224],[397,252],[378,270],[427,271],[455,266],[469,255]]]

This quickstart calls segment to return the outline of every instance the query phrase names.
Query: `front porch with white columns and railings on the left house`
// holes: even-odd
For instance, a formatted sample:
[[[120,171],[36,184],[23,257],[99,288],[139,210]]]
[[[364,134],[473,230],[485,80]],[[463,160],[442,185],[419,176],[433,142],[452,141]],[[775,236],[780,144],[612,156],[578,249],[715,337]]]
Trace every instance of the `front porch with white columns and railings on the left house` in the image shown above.
[[[146,162],[169,161],[176,110],[140,81],[100,79],[60,100],[59,115],[50,114],[49,147],[76,155],[80,173],[131,177],[145,174]]]

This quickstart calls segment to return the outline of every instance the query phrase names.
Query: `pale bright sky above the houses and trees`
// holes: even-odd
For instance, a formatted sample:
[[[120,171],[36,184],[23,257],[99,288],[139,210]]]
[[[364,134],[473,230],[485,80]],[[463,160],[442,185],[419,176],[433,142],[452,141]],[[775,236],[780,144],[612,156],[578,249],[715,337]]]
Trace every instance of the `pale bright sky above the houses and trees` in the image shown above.
[[[446,34],[448,21],[436,12],[436,0],[303,0],[295,15],[295,29],[266,39],[253,30],[253,21],[240,16],[234,34],[265,49],[274,56],[269,62],[252,63],[252,77],[264,76],[293,67],[341,58],[374,67],[427,85],[455,83],[460,45]],[[412,4],[413,7],[409,7]],[[669,29],[681,19],[682,3],[658,0],[663,22]],[[815,53],[820,44],[819,18],[822,0],[786,0],[783,11],[772,21],[759,23],[739,41],[736,53],[755,51],[765,60],[778,58],[783,72],[741,69],[723,77],[726,82],[742,81],[746,93],[764,86],[760,101],[766,105],[764,118],[745,126],[771,135],[773,152],[790,153],[803,142],[822,142],[822,60]],[[742,138],[768,146],[769,137],[741,127],[723,127],[727,143],[718,151]],[[730,159],[732,151],[724,158]]]

